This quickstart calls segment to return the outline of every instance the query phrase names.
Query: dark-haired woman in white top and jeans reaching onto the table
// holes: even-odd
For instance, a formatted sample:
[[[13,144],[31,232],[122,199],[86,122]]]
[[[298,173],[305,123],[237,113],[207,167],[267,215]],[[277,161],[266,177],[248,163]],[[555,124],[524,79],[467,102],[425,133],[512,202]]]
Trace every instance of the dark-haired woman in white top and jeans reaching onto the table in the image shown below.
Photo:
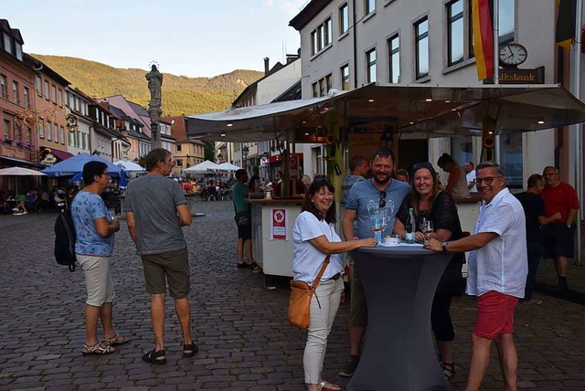
[[[344,290],[343,279],[339,278],[343,272],[339,254],[377,245],[374,238],[342,242],[335,233],[333,203],[333,185],[324,176],[317,176],[304,196],[302,213],[296,218],[293,229],[294,280],[312,284],[325,257],[333,254],[311,301],[311,318],[303,354],[304,382],[309,391],[341,389],[321,377],[327,336]]]

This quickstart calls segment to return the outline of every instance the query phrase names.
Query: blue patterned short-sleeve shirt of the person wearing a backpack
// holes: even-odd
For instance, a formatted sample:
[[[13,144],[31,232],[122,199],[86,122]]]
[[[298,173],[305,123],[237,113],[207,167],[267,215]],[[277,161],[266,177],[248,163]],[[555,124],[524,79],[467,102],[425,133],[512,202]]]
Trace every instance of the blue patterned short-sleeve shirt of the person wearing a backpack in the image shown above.
[[[110,257],[113,252],[113,235],[102,238],[95,228],[93,220],[106,217],[112,222],[101,196],[80,191],[71,203],[71,217],[77,233],[75,253],[94,257]]]

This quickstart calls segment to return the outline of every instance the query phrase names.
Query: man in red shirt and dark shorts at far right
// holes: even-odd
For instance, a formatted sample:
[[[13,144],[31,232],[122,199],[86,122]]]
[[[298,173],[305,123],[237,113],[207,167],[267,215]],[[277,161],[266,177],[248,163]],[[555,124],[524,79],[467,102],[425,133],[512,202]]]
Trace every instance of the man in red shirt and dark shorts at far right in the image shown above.
[[[545,188],[540,196],[545,202],[546,216],[552,217],[557,212],[560,213],[560,217],[542,228],[542,258],[555,260],[558,283],[553,287],[553,291],[566,293],[569,291],[569,283],[567,282],[569,258],[575,256],[573,238],[575,237],[575,221],[579,211],[579,197],[571,185],[560,182],[557,168],[545,167],[542,176],[545,178]]]

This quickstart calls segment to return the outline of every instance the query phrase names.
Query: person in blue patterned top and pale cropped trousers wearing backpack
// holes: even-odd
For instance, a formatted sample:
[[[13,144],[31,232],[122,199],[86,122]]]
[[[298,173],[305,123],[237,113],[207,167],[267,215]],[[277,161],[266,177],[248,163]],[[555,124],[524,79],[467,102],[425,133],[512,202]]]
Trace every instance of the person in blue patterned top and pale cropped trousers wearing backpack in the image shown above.
[[[71,203],[71,216],[77,240],[75,254],[85,276],[88,298],[85,305],[85,343],[82,354],[111,354],[114,345],[129,343],[112,326],[112,301],[115,295],[110,259],[113,234],[120,229],[120,221],[108,213],[101,200],[101,192],[110,182],[107,165],[88,162],[83,166],[86,186]],[[98,340],[98,319],[103,327],[104,340]]]

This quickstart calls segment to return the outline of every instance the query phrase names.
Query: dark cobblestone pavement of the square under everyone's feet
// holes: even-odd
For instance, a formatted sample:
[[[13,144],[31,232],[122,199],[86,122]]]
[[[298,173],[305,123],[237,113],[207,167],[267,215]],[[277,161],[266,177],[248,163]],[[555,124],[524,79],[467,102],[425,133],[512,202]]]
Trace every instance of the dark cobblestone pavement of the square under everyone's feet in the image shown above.
[[[53,259],[55,215],[0,217],[0,389],[303,390],[304,333],[286,321],[286,281],[279,281],[276,291],[264,291],[261,274],[236,269],[236,228],[229,201],[198,203],[197,210],[207,216],[197,217],[185,233],[194,337],[200,351],[193,359],[181,358],[178,322],[167,298],[168,364],[160,366],[141,360],[153,347],[149,299],[123,221],[112,266],[117,294],[114,324],[118,333],[133,341],[115,354],[83,357],[85,286],[80,270],[69,273]],[[585,292],[583,269],[573,267],[569,282]],[[550,279],[551,272],[543,261],[539,279]],[[536,297],[544,302],[519,305],[516,311],[519,387],[585,389],[583,305],[541,293]],[[347,384],[337,375],[348,354],[347,315],[344,305],[324,363],[324,378],[341,386]],[[473,298],[454,299],[452,315],[457,329],[452,386],[463,389],[471,353]],[[503,389],[495,349],[483,389]]]

